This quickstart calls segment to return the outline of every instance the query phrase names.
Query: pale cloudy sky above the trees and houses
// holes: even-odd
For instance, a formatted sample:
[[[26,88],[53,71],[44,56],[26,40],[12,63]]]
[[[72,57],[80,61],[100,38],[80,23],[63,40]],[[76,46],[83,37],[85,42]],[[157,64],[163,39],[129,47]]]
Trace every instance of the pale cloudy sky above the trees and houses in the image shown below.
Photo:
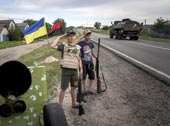
[[[51,23],[63,18],[67,26],[93,26],[96,21],[110,25],[111,21],[131,18],[153,24],[162,17],[170,20],[170,0],[0,0],[0,20],[46,18]]]

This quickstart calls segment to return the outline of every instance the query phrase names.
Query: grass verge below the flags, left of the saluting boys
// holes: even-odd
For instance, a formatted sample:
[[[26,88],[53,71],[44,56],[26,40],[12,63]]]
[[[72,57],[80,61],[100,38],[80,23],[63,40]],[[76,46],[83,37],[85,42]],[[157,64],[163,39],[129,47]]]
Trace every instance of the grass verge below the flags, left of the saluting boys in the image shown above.
[[[54,56],[55,58],[60,58],[60,52],[48,48],[48,45],[45,45],[41,48],[34,50],[26,55],[23,55],[18,60],[24,63],[26,66],[33,66],[36,62],[38,65],[44,65],[46,69],[46,78],[47,78],[47,91],[48,96],[51,96],[51,88],[53,87],[52,79],[57,77],[60,80],[61,76],[61,69],[58,62],[51,62],[51,63],[43,63],[39,64],[44,58],[48,57],[49,55]]]

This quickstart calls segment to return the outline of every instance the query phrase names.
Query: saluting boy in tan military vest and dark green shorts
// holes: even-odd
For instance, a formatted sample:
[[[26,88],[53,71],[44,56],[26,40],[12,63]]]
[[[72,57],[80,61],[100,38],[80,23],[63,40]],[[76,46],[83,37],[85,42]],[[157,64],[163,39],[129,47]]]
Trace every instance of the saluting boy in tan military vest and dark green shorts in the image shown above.
[[[58,42],[65,38],[67,43],[62,43],[58,45]],[[80,46],[74,44],[76,39],[76,33],[69,29],[66,34],[59,36],[51,44],[51,48],[58,49],[62,52],[62,58],[60,60],[60,65],[62,68],[61,75],[61,90],[59,94],[59,104],[62,106],[65,91],[71,85],[71,98],[72,98],[72,108],[78,108],[76,105],[76,87],[78,86],[78,71],[80,69],[80,74],[82,73],[82,62],[80,58]]]

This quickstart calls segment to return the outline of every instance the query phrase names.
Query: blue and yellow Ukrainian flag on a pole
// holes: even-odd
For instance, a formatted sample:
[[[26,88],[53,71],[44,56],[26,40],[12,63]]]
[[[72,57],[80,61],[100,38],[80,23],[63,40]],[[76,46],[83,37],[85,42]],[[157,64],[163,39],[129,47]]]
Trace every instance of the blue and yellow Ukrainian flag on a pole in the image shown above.
[[[23,34],[27,44],[33,42],[35,38],[46,35],[45,18],[40,19],[38,22],[25,29]]]

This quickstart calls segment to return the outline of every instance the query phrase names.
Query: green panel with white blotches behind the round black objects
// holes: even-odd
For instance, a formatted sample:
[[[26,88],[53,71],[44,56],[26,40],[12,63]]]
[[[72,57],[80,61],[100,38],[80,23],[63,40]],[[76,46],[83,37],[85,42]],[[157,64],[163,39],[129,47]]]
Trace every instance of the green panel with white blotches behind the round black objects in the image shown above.
[[[43,105],[47,101],[46,71],[44,66],[28,67],[32,74],[32,84],[29,90],[18,99],[26,102],[24,113],[12,114],[4,118],[0,116],[0,126],[39,126],[39,118]],[[4,99],[0,96],[0,104]]]

